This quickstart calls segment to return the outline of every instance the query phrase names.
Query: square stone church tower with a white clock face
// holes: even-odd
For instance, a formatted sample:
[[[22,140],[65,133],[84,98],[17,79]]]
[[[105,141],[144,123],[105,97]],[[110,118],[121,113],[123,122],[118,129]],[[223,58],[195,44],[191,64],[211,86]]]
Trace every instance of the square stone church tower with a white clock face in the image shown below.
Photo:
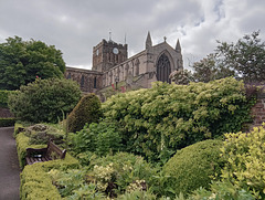
[[[112,39],[103,40],[93,48],[93,71],[106,72],[128,59],[128,45],[118,44]]]

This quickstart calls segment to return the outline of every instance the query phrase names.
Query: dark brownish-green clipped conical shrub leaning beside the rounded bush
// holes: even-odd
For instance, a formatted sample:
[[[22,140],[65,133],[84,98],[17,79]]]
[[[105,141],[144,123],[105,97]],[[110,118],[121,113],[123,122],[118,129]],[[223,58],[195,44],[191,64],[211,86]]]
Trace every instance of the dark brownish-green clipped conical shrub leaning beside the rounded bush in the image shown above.
[[[97,123],[102,116],[100,108],[102,103],[95,94],[83,96],[67,117],[68,131],[78,131],[86,123]]]

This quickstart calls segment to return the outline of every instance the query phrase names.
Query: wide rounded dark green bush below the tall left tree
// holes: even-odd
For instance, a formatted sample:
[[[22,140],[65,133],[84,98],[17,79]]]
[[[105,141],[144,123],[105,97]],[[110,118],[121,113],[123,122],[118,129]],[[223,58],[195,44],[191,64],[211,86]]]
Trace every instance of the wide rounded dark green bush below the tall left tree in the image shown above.
[[[73,81],[36,78],[9,95],[9,107],[22,120],[55,123],[63,113],[70,113],[80,98],[80,87]]]

